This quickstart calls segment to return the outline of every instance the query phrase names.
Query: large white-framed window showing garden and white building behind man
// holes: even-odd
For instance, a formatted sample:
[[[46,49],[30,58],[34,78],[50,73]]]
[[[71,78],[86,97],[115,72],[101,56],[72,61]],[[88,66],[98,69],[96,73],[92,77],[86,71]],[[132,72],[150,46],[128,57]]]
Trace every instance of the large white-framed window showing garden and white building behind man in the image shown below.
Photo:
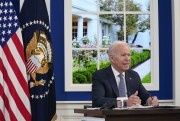
[[[146,89],[158,90],[157,14],[157,0],[66,0],[65,90],[91,91],[92,73],[109,66],[116,40],[131,47],[131,68]]]

